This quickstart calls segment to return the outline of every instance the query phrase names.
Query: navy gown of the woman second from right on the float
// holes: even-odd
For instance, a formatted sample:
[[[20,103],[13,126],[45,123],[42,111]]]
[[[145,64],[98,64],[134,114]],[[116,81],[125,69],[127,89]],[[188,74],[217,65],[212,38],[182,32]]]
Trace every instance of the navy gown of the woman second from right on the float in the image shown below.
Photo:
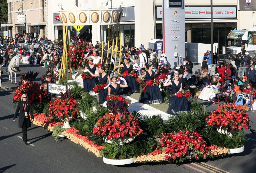
[[[152,71],[152,74],[150,75],[149,72],[146,71],[146,81],[154,80],[154,74],[155,72]],[[143,104],[159,104],[163,103],[163,96],[161,94],[159,86],[150,86],[148,85],[144,90],[142,90],[141,96],[139,97],[139,102]]]

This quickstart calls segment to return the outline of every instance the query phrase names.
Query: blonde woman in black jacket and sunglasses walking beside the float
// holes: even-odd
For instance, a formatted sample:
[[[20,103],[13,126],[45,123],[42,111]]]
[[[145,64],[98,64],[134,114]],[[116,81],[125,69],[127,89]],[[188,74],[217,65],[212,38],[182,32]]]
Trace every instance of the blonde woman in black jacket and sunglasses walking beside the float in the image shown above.
[[[17,109],[14,114],[13,121],[17,118],[18,112],[19,112],[19,128],[22,128],[22,140],[27,144],[27,128],[31,127],[29,113],[31,116],[32,121],[34,121],[34,114],[31,107],[31,104],[29,103],[29,98],[26,94],[23,94],[21,96],[21,102],[18,103]]]

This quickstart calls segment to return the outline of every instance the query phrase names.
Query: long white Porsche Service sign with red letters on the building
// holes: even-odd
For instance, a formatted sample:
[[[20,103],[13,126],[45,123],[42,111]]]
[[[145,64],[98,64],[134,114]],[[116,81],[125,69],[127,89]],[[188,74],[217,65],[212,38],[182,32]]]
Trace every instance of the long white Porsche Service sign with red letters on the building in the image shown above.
[[[185,18],[211,18],[210,7],[185,7]],[[179,15],[170,15],[171,17],[180,17]],[[213,7],[213,18],[236,18],[236,7]],[[163,18],[162,7],[157,7],[157,18]]]

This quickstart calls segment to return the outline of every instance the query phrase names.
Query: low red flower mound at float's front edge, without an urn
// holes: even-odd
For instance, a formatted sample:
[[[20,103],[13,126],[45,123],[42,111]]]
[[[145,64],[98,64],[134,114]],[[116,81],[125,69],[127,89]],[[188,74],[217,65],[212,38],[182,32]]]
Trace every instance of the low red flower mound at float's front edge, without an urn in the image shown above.
[[[165,153],[165,160],[173,161],[177,158],[185,158],[186,155],[193,156],[195,159],[199,157],[206,158],[210,154],[206,142],[197,132],[189,130],[180,130],[174,133],[163,133],[159,140],[160,146],[155,152]]]

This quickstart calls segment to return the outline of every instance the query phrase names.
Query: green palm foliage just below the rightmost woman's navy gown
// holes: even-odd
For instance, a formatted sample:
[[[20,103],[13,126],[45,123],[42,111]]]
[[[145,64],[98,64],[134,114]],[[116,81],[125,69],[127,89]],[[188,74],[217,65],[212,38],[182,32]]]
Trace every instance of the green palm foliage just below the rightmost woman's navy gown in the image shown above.
[[[169,116],[167,120],[169,125],[168,131],[177,132],[184,129],[192,131],[196,129],[200,132],[200,130],[206,126],[207,112],[204,107],[203,104],[194,101],[191,102],[191,111]]]

